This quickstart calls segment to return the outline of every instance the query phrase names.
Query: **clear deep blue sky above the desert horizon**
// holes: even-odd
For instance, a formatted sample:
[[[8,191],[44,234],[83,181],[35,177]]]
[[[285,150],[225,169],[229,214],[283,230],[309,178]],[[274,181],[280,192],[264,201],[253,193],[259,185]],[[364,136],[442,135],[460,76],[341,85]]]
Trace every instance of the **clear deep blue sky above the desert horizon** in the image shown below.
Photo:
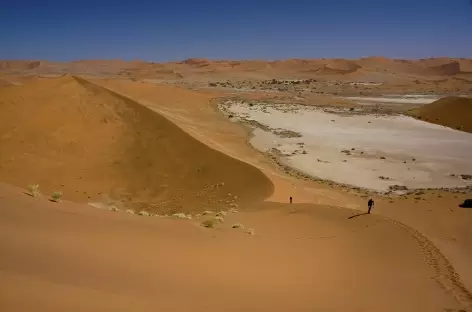
[[[0,59],[472,57],[470,0],[0,0]]]

